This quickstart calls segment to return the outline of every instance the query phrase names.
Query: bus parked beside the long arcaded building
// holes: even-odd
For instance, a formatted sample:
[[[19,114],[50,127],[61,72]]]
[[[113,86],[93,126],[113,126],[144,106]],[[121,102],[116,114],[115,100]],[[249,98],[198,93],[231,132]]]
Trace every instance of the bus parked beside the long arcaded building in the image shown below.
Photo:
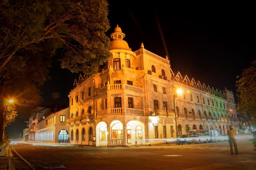
[[[187,136],[195,138],[198,144],[201,142],[208,143],[211,140],[209,135],[209,130],[204,130],[204,129],[188,130]]]

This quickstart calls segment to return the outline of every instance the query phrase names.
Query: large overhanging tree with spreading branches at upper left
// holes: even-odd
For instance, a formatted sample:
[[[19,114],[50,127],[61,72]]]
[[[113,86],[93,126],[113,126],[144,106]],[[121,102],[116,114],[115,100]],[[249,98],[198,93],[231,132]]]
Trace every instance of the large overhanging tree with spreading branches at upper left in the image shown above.
[[[87,74],[111,56],[107,5],[106,0],[0,2],[0,142],[5,99],[14,97],[14,106],[40,104],[40,87],[57,51],[62,68]]]

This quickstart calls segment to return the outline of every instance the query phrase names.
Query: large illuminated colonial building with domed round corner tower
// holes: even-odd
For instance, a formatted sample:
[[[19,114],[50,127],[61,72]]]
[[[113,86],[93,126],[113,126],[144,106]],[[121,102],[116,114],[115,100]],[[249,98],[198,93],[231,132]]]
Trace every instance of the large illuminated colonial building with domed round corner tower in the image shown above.
[[[71,143],[92,145],[95,135],[97,146],[145,145],[190,129],[218,136],[239,127],[231,91],[173,72],[167,56],[143,43],[132,51],[118,26],[110,37],[112,57],[97,74],[80,75],[69,94]]]

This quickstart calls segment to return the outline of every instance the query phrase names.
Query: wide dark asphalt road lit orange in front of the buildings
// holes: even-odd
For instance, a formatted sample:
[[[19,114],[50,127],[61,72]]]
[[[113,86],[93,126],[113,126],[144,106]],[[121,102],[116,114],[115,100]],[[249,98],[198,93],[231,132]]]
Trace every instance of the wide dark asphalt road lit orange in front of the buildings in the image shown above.
[[[255,169],[256,152],[247,138],[237,139],[239,155],[230,155],[228,142],[139,147],[79,147],[71,144],[12,143],[16,170],[182,170]],[[15,151],[14,151],[15,150]],[[255,163],[254,163],[255,162]],[[247,167],[246,167],[247,166]],[[231,168],[231,169],[234,169]]]

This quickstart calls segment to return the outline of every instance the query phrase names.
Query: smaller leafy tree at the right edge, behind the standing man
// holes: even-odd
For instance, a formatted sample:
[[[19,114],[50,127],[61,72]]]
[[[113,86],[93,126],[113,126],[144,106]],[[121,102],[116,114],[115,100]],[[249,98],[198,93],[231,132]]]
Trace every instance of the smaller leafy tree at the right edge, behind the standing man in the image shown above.
[[[238,108],[241,112],[248,112],[252,117],[256,117],[256,60],[251,66],[244,69],[239,80],[236,81]]]

